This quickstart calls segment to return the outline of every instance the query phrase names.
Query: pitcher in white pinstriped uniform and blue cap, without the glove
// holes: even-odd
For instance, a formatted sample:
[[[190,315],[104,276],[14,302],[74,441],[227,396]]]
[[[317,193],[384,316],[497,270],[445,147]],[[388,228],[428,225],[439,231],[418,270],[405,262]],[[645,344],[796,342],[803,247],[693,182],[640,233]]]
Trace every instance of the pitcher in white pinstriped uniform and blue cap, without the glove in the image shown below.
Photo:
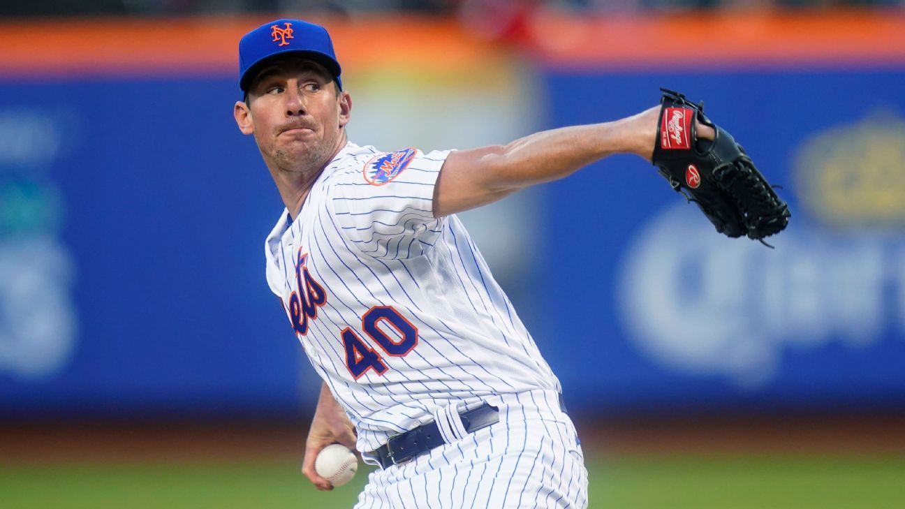
[[[384,151],[347,139],[323,27],[263,24],[239,58],[235,120],[286,207],[267,282],[323,379],[304,475],[331,489],[314,458],[340,443],[379,466],[357,508],[586,507],[559,381],[455,214],[616,152],[650,160],[659,108],[506,146]]]

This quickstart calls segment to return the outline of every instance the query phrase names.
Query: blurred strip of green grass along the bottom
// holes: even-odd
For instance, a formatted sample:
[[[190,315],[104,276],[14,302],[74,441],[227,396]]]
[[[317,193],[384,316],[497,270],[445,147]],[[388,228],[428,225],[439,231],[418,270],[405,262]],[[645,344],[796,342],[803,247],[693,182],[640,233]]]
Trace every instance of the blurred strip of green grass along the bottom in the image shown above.
[[[901,509],[905,458],[670,456],[594,461],[590,507],[612,509]],[[0,506],[348,508],[365,482],[331,493],[293,463],[0,466]]]

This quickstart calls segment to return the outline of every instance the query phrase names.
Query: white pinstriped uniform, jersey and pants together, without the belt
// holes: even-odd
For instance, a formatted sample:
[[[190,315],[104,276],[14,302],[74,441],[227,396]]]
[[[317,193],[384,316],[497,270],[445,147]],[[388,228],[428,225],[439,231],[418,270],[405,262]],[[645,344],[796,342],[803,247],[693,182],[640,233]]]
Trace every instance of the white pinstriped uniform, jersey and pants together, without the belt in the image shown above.
[[[417,151],[374,185],[365,168],[380,152],[349,143],[267,237],[267,281],[360,451],[432,420],[448,443],[371,475],[357,507],[584,507],[559,381],[459,219],[433,217],[448,153]],[[367,330],[376,308],[396,322],[371,315]],[[466,434],[457,408],[483,401],[500,423]]]

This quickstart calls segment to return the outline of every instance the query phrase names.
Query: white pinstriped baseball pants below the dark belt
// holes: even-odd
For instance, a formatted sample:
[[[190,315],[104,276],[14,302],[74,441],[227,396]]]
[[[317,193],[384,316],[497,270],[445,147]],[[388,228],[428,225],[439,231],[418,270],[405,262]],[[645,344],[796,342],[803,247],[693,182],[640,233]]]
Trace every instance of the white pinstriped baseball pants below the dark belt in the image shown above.
[[[500,423],[372,472],[356,509],[587,507],[584,456],[556,394],[510,396]]]

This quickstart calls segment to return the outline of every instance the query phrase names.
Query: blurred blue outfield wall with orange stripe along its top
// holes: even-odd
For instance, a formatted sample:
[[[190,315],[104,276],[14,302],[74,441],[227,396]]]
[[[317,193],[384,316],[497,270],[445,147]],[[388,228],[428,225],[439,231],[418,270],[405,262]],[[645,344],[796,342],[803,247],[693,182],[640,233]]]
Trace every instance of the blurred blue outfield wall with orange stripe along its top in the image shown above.
[[[235,42],[263,21],[0,24],[6,416],[310,405],[263,280],[279,197],[231,115]],[[359,142],[503,143],[667,86],[784,185],[776,250],[715,234],[630,157],[464,215],[571,408],[905,408],[905,17],[547,15],[505,45],[320,21]]]

